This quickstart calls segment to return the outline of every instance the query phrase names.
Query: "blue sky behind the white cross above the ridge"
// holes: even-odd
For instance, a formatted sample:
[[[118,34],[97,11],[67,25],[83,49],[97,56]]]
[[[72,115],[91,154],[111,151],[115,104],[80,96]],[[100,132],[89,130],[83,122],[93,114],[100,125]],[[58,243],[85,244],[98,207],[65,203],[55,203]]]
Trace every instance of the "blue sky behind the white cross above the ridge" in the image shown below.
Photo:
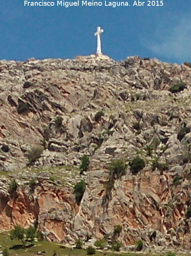
[[[0,59],[89,55],[96,51],[94,32],[101,26],[102,51],[115,60],[138,55],[191,62],[190,0],[163,0],[162,7],[136,7],[127,0],[129,7],[115,8],[105,7],[105,0],[98,0],[101,7],[68,8],[52,1],[53,7],[24,7],[24,0],[1,0]]]

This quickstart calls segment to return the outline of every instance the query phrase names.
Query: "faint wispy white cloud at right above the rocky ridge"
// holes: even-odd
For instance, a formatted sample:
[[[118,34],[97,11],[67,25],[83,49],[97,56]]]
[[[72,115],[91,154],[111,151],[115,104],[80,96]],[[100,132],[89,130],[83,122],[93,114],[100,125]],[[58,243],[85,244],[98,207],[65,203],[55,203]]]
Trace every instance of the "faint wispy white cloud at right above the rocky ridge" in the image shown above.
[[[163,24],[155,35],[154,41],[147,43],[149,50],[163,57],[175,58],[178,62],[191,62],[191,16],[173,25]]]

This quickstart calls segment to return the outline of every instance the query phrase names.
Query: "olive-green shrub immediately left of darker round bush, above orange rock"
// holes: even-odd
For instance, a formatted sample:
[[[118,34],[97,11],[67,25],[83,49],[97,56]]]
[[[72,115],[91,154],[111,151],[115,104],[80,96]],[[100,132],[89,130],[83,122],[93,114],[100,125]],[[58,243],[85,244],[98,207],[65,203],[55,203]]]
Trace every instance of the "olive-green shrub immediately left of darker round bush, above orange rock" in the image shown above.
[[[110,177],[115,175],[117,179],[126,174],[126,165],[121,159],[112,160],[108,169],[110,170]]]

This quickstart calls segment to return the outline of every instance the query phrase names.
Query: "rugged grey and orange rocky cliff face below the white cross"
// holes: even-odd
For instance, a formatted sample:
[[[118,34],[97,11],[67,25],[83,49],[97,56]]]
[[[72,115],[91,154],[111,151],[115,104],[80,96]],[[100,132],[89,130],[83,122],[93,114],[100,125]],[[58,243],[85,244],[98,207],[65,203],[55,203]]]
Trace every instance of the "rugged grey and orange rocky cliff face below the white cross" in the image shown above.
[[[186,88],[174,94],[168,89],[177,83]],[[191,249],[190,86],[189,66],[157,59],[0,61],[0,228],[36,220],[44,238],[73,243],[86,233],[111,239],[121,225],[124,248],[142,239],[150,248]],[[95,120],[98,111],[104,116]],[[42,156],[26,168],[28,150],[39,144]],[[90,168],[80,176],[84,154]],[[136,155],[144,169],[128,167],[108,196],[110,161]],[[165,168],[152,168],[156,159]],[[12,196],[10,178],[19,183]],[[87,186],[78,206],[73,185],[81,179]]]

